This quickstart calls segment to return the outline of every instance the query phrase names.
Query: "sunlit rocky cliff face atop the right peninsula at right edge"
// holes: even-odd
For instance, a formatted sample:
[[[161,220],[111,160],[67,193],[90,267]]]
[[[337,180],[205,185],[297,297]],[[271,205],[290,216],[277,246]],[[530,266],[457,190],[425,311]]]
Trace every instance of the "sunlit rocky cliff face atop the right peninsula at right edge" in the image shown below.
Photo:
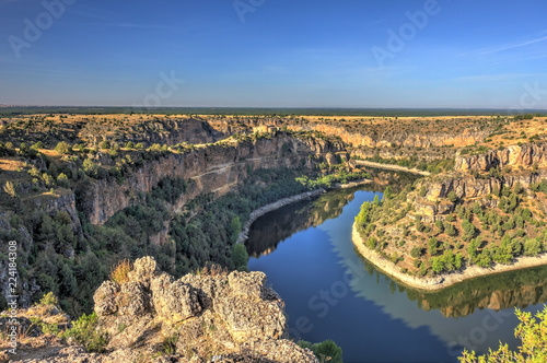
[[[458,173],[488,172],[492,167],[547,168],[547,144],[512,145],[481,155],[457,156],[454,171]]]

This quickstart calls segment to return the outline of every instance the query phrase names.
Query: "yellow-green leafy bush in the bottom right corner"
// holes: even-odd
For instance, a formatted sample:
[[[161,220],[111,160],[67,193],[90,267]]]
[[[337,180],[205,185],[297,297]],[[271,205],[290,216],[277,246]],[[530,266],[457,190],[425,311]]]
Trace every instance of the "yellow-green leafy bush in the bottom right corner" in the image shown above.
[[[500,342],[500,348],[490,350],[488,354],[477,356],[474,351],[464,350],[458,356],[459,363],[543,363],[547,362],[547,306],[543,312],[536,314],[536,318],[531,313],[523,313],[515,308],[515,315],[521,324],[515,328],[514,335],[521,339],[517,351],[510,351],[508,344]]]

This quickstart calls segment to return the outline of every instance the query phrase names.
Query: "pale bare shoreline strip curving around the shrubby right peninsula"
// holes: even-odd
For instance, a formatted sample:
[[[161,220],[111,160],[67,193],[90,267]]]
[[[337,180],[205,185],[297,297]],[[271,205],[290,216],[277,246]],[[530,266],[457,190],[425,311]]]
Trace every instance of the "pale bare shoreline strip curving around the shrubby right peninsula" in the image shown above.
[[[353,223],[353,226],[351,229],[351,239],[353,241],[353,245],[357,247],[359,254],[369,262],[374,265],[374,267],[382,271],[382,273],[387,274],[389,278],[397,280],[398,282],[401,282],[404,285],[426,291],[442,290],[458,282],[482,276],[547,265],[547,254],[544,254],[538,257],[519,257],[512,265],[497,264],[490,268],[470,266],[459,272],[437,276],[434,278],[417,278],[403,273],[392,261],[382,258],[379,254],[369,249],[364,245],[364,239],[357,231],[356,223]]]

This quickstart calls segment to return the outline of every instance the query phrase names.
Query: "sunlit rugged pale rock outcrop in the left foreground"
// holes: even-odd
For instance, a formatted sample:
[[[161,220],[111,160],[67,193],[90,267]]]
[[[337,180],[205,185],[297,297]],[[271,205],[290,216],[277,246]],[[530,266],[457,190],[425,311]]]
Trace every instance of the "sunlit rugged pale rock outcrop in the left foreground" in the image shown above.
[[[16,362],[318,362],[289,340],[284,303],[263,272],[207,272],[179,280],[151,257],[123,283],[95,292],[103,353],[35,331]],[[26,318],[25,318],[25,321]]]

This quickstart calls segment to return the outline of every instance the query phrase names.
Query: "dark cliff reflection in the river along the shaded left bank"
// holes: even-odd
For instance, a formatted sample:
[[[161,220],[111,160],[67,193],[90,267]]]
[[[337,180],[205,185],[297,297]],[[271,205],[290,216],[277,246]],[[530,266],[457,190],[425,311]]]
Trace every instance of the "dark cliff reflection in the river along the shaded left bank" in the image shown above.
[[[280,242],[283,242],[299,231],[323,224],[326,220],[337,218],[342,208],[353,200],[357,190],[384,191],[387,185],[394,192],[400,191],[416,176],[408,173],[395,173],[380,169],[369,171],[373,183],[349,189],[329,191],[313,201],[296,202],[259,218],[251,226],[248,239],[245,243],[252,257],[268,255]]]

